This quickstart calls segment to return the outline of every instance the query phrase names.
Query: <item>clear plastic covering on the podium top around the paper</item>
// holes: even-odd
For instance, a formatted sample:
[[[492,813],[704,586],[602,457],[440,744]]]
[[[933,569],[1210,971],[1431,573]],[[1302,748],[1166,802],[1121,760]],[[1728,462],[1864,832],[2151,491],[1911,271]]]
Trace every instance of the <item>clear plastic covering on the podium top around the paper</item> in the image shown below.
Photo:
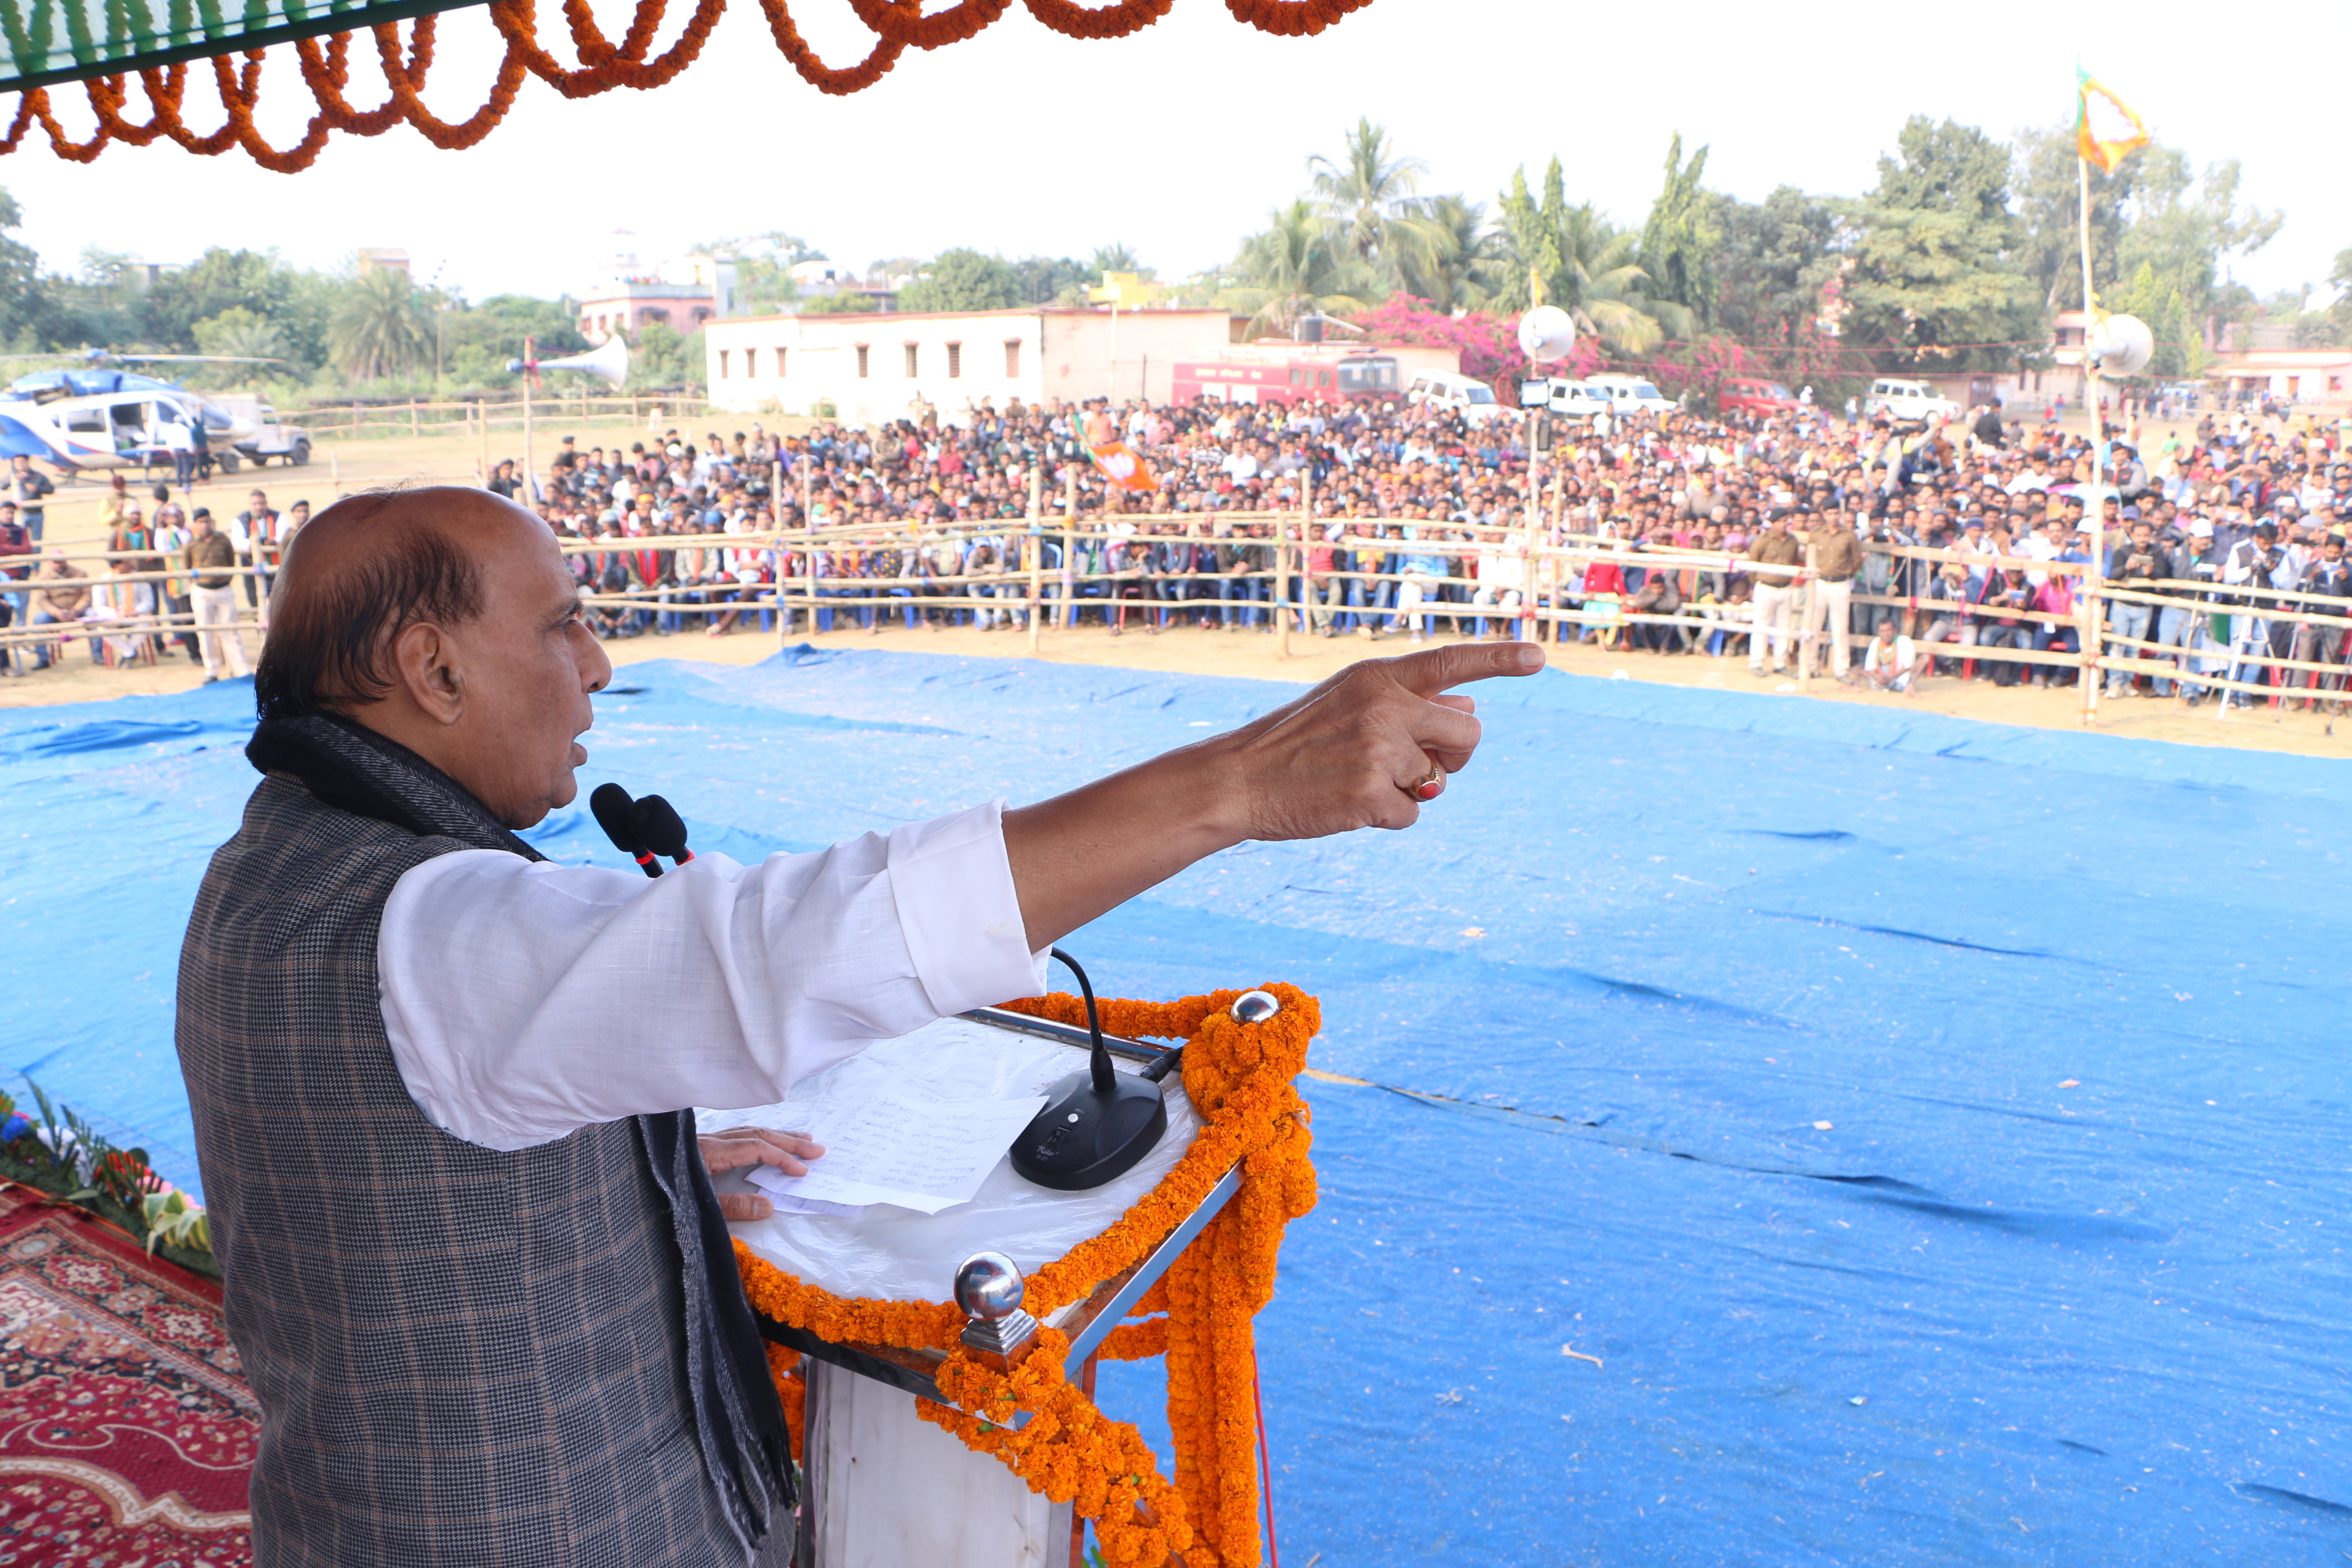
[[[877,1093],[915,1100],[1030,1095],[1084,1065],[1087,1053],[1075,1046],[1056,1046],[969,1018],[941,1018],[795,1084],[783,1105],[696,1112],[696,1121],[703,1131],[722,1126],[793,1131],[807,1126],[823,1105],[840,1100]],[[1120,1072],[1136,1070],[1136,1063],[1117,1065]],[[847,1218],[779,1213],[729,1229],[767,1262],[835,1295],[948,1300],[955,1267],[971,1253],[1004,1253],[1028,1274],[1108,1229],[1192,1145],[1200,1121],[1178,1074],[1169,1074],[1162,1088],[1169,1100],[1167,1135],[1134,1171],[1094,1192],[1049,1192],[1021,1178],[1007,1159],[981,1182],[976,1199],[936,1215],[896,1204],[868,1204]],[[720,1175],[717,1187],[753,1190],[736,1171]]]

